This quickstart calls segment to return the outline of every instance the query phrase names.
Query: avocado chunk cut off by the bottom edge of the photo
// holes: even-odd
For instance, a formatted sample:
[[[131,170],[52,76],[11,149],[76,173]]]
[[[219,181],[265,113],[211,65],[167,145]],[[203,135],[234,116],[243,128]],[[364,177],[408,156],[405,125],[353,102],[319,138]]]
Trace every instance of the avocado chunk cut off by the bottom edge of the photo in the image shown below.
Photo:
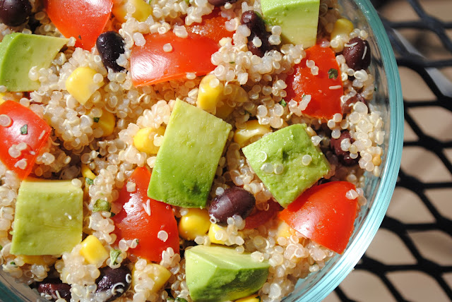
[[[186,285],[193,301],[233,301],[261,289],[268,262],[223,246],[194,246],[185,251]]]

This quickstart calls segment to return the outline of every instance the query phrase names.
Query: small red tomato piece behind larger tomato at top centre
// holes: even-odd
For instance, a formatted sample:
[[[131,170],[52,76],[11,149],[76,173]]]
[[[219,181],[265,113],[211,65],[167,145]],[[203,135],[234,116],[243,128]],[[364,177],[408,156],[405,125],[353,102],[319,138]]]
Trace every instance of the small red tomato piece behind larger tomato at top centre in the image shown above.
[[[217,43],[224,37],[231,37],[234,32],[226,29],[227,18],[220,15],[220,9],[215,8],[212,13],[203,16],[203,22],[193,23],[186,27],[187,32],[208,37]]]

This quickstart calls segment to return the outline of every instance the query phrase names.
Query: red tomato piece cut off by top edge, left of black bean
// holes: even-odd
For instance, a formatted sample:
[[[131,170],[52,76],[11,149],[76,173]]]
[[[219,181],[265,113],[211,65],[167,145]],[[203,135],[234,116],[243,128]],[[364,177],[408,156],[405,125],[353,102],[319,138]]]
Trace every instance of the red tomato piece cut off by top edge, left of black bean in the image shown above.
[[[113,1],[45,0],[44,6],[64,37],[75,37],[76,47],[91,50],[107,25]]]

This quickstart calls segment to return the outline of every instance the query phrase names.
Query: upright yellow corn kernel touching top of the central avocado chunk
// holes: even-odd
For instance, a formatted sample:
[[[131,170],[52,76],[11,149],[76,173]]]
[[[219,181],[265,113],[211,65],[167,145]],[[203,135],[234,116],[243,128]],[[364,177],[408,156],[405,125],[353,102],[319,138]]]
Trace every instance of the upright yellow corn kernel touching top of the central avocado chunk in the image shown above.
[[[223,98],[224,89],[224,86],[215,75],[206,75],[199,83],[196,106],[211,114],[215,114],[217,104]]]

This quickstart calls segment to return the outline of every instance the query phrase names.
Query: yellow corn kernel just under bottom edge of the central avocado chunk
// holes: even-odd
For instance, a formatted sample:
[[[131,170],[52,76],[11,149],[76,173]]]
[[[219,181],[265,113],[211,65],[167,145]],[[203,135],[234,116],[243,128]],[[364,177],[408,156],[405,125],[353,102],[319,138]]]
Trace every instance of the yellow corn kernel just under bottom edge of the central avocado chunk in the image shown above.
[[[196,236],[204,236],[210,228],[210,217],[207,210],[189,209],[187,215],[179,221],[179,236],[186,240],[194,240]]]

